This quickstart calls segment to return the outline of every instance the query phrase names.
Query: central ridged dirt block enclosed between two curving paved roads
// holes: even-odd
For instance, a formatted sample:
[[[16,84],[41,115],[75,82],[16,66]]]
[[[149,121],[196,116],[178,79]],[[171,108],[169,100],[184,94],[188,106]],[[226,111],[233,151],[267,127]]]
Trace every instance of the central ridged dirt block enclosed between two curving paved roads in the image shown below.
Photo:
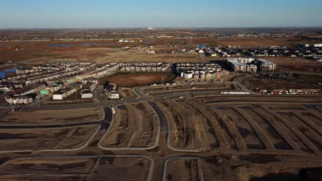
[[[103,147],[150,147],[158,132],[158,121],[145,102],[115,106],[111,130],[102,138]]]

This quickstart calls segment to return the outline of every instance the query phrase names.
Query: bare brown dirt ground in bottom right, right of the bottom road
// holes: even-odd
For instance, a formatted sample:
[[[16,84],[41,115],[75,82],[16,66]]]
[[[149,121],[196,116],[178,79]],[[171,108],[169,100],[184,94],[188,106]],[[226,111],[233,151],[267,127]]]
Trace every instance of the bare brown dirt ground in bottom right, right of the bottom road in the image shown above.
[[[321,162],[302,156],[250,154],[230,158],[230,154],[215,154],[170,160],[166,180],[300,180],[301,169],[310,167],[321,167]]]

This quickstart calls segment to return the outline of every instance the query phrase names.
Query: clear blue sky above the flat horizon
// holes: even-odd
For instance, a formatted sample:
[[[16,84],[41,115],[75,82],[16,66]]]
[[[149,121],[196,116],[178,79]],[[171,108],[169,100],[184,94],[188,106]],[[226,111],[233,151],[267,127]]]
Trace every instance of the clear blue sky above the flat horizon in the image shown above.
[[[322,26],[321,0],[10,0],[0,28]]]

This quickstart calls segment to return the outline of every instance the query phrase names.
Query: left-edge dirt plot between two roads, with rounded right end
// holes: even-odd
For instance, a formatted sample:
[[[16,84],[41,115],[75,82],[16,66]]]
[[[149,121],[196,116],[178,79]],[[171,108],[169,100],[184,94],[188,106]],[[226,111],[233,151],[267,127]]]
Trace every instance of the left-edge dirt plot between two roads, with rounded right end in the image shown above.
[[[3,129],[0,130],[0,150],[77,149],[89,141],[99,125],[67,128]]]

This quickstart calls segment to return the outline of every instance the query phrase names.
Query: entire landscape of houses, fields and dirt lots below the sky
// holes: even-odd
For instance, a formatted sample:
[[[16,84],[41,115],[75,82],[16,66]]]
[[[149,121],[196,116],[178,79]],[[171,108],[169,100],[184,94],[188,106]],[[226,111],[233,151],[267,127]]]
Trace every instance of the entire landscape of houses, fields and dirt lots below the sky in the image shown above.
[[[321,32],[0,29],[0,180],[321,180]]]

